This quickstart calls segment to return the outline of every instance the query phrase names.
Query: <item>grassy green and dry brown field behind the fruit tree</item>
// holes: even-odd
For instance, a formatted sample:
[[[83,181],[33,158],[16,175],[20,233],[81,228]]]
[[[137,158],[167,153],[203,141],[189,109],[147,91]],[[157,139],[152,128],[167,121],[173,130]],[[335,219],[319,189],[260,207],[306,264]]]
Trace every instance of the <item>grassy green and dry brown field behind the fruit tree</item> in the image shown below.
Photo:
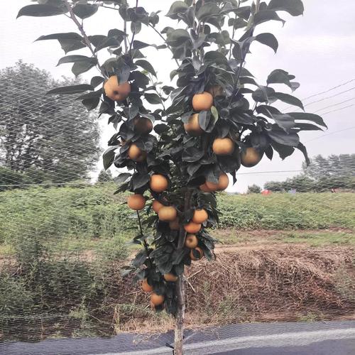
[[[0,339],[173,326],[121,278],[137,229],[113,190],[0,193]],[[222,194],[219,209],[217,261],[187,273],[189,327],[355,317],[355,194]]]

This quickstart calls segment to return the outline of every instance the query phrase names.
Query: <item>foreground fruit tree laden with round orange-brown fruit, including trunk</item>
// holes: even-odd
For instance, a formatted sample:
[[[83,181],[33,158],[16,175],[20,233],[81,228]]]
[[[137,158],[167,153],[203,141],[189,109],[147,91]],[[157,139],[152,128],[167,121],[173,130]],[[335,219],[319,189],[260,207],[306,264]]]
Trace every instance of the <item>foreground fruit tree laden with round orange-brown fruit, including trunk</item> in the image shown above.
[[[109,114],[109,122],[117,129],[104,153],[104,167],[129,170],[116,178],[122,182],[117,191],[133,192],[127,201],[138,217],[133,243],[141,246],[125,273],[135,273],[142,280],[155,310],[165,309],[176,317],[175,354],[180,355],[185,267],[204,256],[214,258],[217,241],[208,229],[218,223],[216,192],[228,187],[227,174],[236,182],[242,164],[251,168],[264,155],[272,159],[274,151],[284,159],[299,149],[308,162],[300,131],[326,127],[315,114],[282,113],[273,106],[280,101],[303,109],[292,94],[273,88],[273,84],[285,84],[295,91],[300,84],[293,81],[294,75],[275,69],[263,85],[244,67],[251,43],[278,48],[273,34],[256,34],[258,25],[285,23],[278,11],[300,16],[302,1],[174,1],[167,16],[178,21],[177,27],[161,31],[158,12],[148,13],[139,0],[132,6],[126,0],[38,2],[25,6],[18,16],[65,14],[79,31],[44,35],[39,40],[57,39],[66,53],[85,47],[89,56],[67,55],[60,62],[74,63],[75,75],[92,67],[101,73],[90,84],[58,87],[48,94],[82,93],[85,107],[100,105],[100,114]],[[82,20],[100,6],[117,11],[121,28],[107,35],[87,35]],[[142,26],[158,33],[165,44],[138,40]],[[152,46],[173,53],[178,68],[167,82],[176,79],[175,87],[155,81],[153,65],[143,59],[144,50]],[[102,63],[97,53],[107,47],[112,56]],[[168,96],[171,104],[165,108]],[[159,108],[153,111],[147,108],[150,105]],[[139,211],[143,209],[148,215],[142,219]],[[153,236],[145,233],[145,226],[153,229]]]

